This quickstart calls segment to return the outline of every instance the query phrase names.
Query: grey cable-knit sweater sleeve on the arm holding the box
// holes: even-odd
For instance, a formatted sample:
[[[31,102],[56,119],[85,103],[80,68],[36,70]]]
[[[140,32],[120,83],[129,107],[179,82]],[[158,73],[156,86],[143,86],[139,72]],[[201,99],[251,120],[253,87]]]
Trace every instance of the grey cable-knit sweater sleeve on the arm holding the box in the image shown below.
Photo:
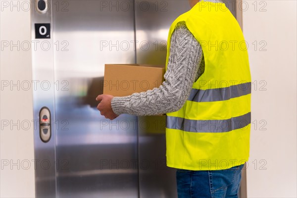
[[[158,88],[113,97],[111,107],[115,114],[138,116],[156,115],[179,110],[189,98],[192,86],[201,71],[202,49],[185,22],[179,22],[170,39],[169,60],[165,81]]]

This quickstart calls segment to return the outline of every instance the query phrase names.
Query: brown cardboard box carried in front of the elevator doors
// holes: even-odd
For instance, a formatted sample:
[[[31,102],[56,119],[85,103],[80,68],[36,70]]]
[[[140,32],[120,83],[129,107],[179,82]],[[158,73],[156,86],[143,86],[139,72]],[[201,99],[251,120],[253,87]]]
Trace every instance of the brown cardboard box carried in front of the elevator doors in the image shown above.
[[[103,94],[129,96],[158,88],[165,66],[148,64],[105,64]]]

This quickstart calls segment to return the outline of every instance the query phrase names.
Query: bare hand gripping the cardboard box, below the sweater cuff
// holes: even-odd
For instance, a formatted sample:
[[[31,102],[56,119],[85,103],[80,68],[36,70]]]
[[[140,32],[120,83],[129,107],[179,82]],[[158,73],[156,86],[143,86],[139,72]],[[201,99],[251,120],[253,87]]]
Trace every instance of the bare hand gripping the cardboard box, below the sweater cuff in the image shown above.
[[[111,95],[99,95],[96,100],[100,103],[97,106],[97,109],[100,111],[101,115],[104,115],[105,118],[113,120],[118,115],[115,114],[111,108],[111,99],[113,96]]]

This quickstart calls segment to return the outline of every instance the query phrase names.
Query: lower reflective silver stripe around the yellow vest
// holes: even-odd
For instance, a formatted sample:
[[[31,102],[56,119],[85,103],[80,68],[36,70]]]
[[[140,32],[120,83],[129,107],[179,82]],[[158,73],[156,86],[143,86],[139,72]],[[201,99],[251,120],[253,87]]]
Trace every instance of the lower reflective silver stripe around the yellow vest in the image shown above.
[[[250,124],[250,112],[227,120],[189,120],[180,117],[166,116],[166,128],[196,133],[228,132],[244,128],[248,124]]]

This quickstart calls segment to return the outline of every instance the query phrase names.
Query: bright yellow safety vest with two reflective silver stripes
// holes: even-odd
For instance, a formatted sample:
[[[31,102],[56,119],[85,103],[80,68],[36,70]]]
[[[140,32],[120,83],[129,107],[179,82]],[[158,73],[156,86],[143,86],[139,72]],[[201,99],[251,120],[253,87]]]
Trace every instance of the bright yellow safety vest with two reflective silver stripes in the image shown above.
[[[224,3],[199,1],[180,15],[202,47],[204,73],[183,107],[166,114],[167,166],[221,170],[249,157],[250,92],[247,46],[242,30]]]

